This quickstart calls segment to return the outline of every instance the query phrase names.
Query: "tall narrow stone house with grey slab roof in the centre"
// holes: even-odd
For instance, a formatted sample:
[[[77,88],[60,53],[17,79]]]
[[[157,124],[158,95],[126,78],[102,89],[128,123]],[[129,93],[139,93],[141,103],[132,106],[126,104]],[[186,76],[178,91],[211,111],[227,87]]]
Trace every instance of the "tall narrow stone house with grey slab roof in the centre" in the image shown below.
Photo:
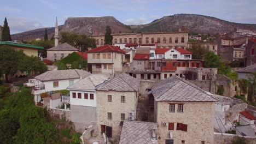
[[[136,119],[138,79],[120,74],[97,88],[98,134],[105,133],[114,143],[120,139],[123,121]]]

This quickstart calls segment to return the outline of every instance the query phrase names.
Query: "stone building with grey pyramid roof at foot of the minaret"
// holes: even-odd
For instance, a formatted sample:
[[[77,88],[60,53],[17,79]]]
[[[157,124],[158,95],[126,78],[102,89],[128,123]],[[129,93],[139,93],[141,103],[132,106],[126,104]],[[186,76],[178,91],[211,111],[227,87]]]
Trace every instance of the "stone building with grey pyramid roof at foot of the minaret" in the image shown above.
[[[49,61],[59,61],[65,58],[73,52],[79,52],[79,50],[68,43],[63,43],[47,50],[47,60]]]

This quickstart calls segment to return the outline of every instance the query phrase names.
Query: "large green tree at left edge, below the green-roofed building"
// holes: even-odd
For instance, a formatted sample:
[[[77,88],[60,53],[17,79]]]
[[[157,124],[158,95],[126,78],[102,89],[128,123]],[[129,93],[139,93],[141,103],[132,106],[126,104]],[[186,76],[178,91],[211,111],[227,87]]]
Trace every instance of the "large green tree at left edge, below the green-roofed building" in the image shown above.
[[[18,71],[18,65],[25,54],[8,46],[0,47],[0,69],[4,71],[5,82],[9,82],[8,76]]]

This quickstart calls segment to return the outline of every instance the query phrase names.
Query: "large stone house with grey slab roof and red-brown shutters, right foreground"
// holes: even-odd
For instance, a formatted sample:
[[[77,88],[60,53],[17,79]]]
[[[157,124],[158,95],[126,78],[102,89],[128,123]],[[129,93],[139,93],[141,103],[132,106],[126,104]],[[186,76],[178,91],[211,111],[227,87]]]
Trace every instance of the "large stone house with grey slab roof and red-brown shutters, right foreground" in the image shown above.
[[[214,143],[214,102],[210,93],[172,76],[156,83],[154,120],[158,143]]]

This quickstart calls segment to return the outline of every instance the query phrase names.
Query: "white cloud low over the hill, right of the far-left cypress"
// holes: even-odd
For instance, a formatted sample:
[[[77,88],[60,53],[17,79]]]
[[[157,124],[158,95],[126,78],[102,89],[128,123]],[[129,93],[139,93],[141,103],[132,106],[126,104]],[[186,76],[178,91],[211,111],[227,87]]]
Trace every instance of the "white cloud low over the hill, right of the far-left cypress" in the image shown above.
[[[11,34],[43,27],[39,21],[26,17],[9,17],[7,21]]]

